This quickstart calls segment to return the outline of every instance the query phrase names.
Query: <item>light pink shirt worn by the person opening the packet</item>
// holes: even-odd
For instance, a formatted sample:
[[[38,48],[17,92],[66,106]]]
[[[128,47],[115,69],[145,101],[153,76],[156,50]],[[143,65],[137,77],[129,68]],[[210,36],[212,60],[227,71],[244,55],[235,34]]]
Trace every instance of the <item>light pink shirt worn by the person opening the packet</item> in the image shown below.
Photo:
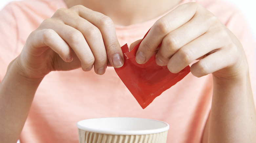
[[[180,4],[191,1],[213,12],[240,39],[256,95],[256,43],[244,16],[221,0],[183,0]],[[0,80],[8,64],[21,52],[28,35],[58,8],[67,6],[62,0],[24,0],[12,2],[0,11]],[[120,45],[129,45],[143,38],[160,17],[129,26],[116,25]],[[167,122],[170,125],[168,143],[199,143],[211,108],[211,98],[211,75],[197,78],[189,73],[142,109],[113,67],[108,67],[104,75],[97,75],[94,70],[53,71],[38,87],[20,141],[77,143],[76,122],[79,120],[139,117]]]

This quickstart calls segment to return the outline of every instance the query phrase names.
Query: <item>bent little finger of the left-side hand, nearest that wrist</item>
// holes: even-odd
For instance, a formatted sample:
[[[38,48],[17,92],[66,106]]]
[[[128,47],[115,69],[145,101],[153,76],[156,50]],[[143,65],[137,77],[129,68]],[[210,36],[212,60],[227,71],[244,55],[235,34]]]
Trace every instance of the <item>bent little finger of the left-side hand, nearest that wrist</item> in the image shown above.
[[[53,29],[34,31],[28,39],[33,47],[50,47],[65,62],[71,62],[73,60],[69,45]],[[36,50],[38,53],[33,53],[33,55],[40,55],[45,52],[45,50],[45,48]]]

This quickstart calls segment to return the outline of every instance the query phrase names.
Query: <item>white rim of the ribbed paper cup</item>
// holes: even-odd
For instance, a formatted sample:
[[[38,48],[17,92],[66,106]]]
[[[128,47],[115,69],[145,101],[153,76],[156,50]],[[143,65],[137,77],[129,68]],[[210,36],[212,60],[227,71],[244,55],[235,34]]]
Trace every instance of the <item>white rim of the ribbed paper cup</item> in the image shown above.
[[[106,120],[124,120],[124,121],[140,121],[141,123],[147,121],[149,123],[157,123],[160,124],[161,127],[154,128],[154,129],[143,129],[143,130],[111,130],[111,129],[99,129],[99,128],[93,128],[93,127],[86,127],[83,124],[84,123],[90,123],[90,121],[106,121]],[[126,122],[127,123],[127,122]],[[106,118],[92,118],[92,119],[84,119],[81,121],[78,121],[76,123],[76,126],[78,129],[94,132],[94,133],[100,133],[100,134],[109,134],[109,135],[146,135],[146,134],[156,134],[161,133],[169,130],[169,124],[163,121],[155,120],[155,119],[146,119],[146,118],[133,118],[133,117],[106,117]]]

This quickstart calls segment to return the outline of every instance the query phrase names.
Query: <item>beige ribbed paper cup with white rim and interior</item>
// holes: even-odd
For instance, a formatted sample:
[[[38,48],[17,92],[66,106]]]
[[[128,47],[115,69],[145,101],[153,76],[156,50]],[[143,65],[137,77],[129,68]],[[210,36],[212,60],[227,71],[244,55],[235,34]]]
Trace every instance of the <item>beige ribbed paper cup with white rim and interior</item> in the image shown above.
[[[77,122],[79,143],[166,143],[169,125],[143,118],[95,118]]]

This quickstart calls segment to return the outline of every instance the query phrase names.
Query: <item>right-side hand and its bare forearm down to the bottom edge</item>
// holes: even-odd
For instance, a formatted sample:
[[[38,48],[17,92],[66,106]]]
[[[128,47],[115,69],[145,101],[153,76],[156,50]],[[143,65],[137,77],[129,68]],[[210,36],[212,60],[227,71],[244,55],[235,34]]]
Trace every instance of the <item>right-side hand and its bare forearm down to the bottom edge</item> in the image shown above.
[[[211,110],[202,142],[255,142],[256,112],[248,63],[234,34],[201,5],[187,3],[151,27],[137,50],[137,62],[147,62],[160,43],[158,65],[178,73],[192,64],[194,76],[213,75]]]

